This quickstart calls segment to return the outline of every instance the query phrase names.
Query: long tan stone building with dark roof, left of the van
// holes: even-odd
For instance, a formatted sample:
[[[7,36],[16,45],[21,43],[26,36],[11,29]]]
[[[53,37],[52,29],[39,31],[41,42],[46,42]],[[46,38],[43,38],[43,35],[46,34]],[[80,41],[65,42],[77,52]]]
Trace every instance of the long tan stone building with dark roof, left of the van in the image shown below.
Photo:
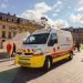
[[[34,21],[18,18],[15,14],[0,12],[0,49],[4,41],[12,39],[17,33],[28,31],[32,33],[34,30],[42,28],[43,25]]]

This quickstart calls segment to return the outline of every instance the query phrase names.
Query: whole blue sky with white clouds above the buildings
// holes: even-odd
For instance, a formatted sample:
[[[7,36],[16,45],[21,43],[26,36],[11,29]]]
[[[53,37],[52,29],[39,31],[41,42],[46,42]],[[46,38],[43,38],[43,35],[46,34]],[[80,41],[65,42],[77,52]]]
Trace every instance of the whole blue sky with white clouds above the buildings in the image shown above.
[[[0,0],[0,12],[35,21],[46,17],[56,27],[83,27],[83,0]]]

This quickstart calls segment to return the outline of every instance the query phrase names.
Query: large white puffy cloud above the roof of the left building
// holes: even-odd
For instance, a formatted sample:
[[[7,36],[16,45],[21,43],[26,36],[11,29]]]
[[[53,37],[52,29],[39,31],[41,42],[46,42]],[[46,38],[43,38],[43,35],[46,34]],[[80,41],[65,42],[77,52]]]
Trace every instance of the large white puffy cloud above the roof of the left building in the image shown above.
[[[44,17],[51,7],[45,2],[37,3],[33,10],[25,10],[20,17],[29,20],[38,21],[41,17]]]

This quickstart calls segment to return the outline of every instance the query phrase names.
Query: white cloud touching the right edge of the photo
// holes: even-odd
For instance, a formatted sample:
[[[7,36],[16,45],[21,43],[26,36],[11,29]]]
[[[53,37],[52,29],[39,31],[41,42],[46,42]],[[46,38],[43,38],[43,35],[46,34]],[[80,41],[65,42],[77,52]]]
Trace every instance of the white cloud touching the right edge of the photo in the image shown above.
[[[71,14],[70,20],[72,22],[83,23],[83,14]]]

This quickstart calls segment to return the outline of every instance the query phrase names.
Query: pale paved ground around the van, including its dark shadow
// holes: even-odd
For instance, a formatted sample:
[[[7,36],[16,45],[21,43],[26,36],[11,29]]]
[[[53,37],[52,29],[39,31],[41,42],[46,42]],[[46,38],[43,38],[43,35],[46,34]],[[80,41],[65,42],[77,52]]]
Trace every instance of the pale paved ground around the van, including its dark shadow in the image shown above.
[[[83,51],[72,61],[55,63],[49,72],[21,69],[13,60],[0,62],[0,83],[83,83]]]

